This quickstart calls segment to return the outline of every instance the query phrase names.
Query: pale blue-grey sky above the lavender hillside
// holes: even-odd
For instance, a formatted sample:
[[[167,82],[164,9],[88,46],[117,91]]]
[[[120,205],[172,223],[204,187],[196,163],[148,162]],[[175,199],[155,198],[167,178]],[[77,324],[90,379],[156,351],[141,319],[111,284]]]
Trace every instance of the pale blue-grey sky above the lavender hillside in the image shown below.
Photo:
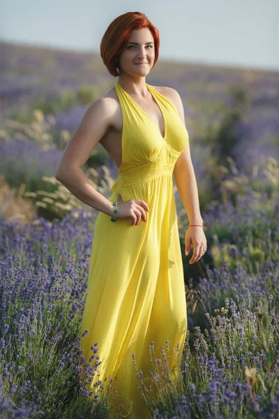
[[[129,11],[157,27],[159,60],[279,70],[278,0],[1,0],[0,38],[100,53]]]

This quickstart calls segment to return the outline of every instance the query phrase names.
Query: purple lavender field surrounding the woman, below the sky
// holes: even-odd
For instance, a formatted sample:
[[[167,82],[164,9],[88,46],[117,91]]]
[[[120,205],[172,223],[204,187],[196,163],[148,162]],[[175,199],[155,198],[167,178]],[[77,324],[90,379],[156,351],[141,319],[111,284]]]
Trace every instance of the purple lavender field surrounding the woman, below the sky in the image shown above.
[[[0,418],[110,418],[103,383],[87,390],[98,342],[91,367],[78,335],[97,212],[54,173],[116,79],[94,54],[1,44],[1,56]],[[159,58],[146,82],[181,94],[208,251],[189,265],[174,184],[188,332],[179,385],[167,341],[158,397],[135,367],[143,403],[153,419],[279,419],[279,73]],[[117,169],[100,145],[82,170],[109,196]]]

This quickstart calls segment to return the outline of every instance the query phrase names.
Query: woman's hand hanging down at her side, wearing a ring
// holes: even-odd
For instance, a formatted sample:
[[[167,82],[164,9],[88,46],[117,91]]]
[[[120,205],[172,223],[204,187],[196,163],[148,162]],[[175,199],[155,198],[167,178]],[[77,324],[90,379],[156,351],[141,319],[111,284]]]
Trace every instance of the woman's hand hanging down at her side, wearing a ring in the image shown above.
[[[197,262],[207,249],[206,237],[204,230],[199,226],[189,227],[185,235],[185,254],[188,255],[191,251],[191,243],[193,244],[193,256],[190,258],[189,263]]]

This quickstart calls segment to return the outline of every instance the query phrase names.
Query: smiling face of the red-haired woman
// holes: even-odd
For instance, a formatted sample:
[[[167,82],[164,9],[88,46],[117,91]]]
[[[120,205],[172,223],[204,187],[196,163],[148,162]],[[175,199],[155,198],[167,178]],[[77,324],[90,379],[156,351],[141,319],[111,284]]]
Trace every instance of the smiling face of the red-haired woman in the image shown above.
[[[131,31],[124,50],[119,54],[118,67],[120,72],[145,76],[153,67],[154,57],[154,40],[151,31],[148,28],[135,29]]]

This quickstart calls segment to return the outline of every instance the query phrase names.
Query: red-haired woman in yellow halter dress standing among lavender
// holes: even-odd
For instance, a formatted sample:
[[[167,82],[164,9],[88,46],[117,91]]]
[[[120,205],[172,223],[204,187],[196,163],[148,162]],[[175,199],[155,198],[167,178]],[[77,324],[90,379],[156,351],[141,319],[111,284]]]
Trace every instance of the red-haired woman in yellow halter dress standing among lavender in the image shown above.
[[[186,338],[172,175],[190,221],[186,232],[186,254],[191,243],[194,247],[190,263],[206,251],[181,98],[175,89],[154,87],[145,80],[158,50],[158,30],[143,13],[125,13],[110,24],[100,54],[118,81],[86,110],[56,172],[56,179],[99,211],[81,347],[89,360],[98,343],[98,374],[89,388],[94,391],[94,384],[104,383],[105,376],[117,376],[122,418],[151,417],[137,389],[134,357],[148,388],[149,370],[154,368],[151,342],[155,358],[162,358],[160,349],[168,341],[175,377],[179,357],[173,348],[182,348]],[[80,169],[98,142],[119,168],[109,199],[89,185]],[[96,357],[91,358],[92,367],[95,362]]]

